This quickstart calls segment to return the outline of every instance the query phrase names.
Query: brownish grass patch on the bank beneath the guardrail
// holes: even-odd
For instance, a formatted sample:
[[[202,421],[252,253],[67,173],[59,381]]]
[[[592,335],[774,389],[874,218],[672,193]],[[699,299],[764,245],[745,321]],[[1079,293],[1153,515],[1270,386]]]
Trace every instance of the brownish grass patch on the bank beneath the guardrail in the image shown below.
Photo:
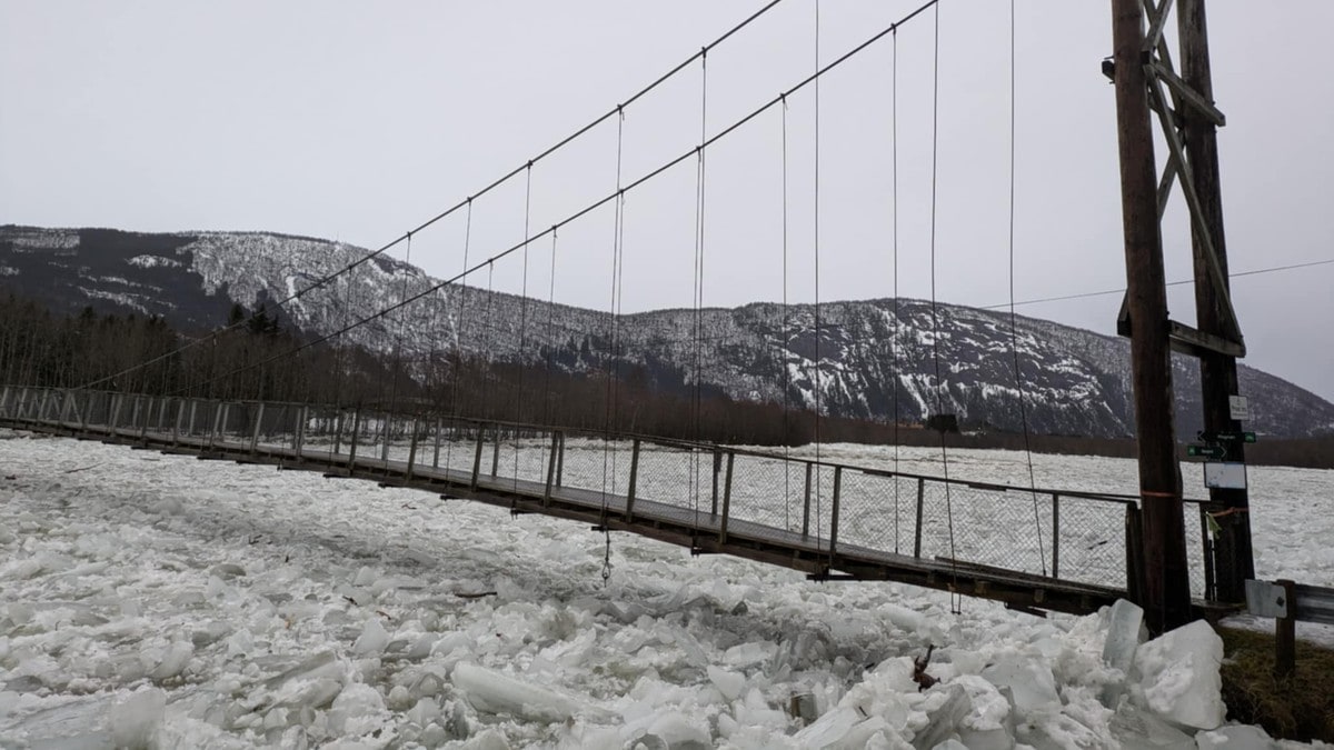
[[[1334,650],[1297,641],[1297,673],[1274,677],[1274,633],[1219,627],[1227,717],[1270,737],[1334,742]]]

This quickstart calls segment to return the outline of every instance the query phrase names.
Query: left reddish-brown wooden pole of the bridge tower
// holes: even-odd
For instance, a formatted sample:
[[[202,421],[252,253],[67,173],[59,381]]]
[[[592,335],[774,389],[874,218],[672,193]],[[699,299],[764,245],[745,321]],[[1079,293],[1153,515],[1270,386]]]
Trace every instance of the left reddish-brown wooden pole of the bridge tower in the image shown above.
[[[1126,312],[1143,506],[1142,605],[1149,626],[1162,633],[1190,621],[1190,579],[1177,466],[1158,179],[1145,72],[1146,37],[1139,3],[1111,0],[1113,64],[1126,239]]]

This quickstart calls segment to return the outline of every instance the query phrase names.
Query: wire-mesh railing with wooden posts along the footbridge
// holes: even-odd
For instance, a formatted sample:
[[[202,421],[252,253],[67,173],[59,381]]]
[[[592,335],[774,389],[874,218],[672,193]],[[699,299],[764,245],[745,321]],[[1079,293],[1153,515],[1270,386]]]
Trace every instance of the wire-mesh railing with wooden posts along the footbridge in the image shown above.
[[[236,456],[319,460],[348,472],[432,475],[474,488],[579,488],[627,519],[636,503],[676,508],[722,539],[763,527],[799,535],[831,556],[859,548],[1118,589],[1129,587],[1127,530],[1138,527],[1138,500],[1126,495],[366,406],[4,387],[0,418]],[[1209,510],[1187,500],[1197,597],[1213,594]]]

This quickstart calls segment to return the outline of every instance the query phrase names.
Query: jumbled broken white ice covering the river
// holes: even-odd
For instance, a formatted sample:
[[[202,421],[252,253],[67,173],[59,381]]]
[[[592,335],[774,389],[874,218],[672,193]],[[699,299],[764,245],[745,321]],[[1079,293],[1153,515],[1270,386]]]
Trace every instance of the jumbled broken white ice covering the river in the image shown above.
[[[1022,454],[950,460],[951,475],[1027,483]],[[1038,484],[1134,487],[1133,462],[1034,460]],[[1334,472],[1254,468],[1251,484],[1258,574],[1334,585]],[[606,550],[580,524],[412,490],[0,432],[0,747],[1226,737],[1186,726],[1221,718],[1207,627],[1137,649],[1130,609],[954,613],[942,593],[811,583],[630,535],[611,538],[604,585]],[[931,645],[938,682],[919,691],[912,659]]]

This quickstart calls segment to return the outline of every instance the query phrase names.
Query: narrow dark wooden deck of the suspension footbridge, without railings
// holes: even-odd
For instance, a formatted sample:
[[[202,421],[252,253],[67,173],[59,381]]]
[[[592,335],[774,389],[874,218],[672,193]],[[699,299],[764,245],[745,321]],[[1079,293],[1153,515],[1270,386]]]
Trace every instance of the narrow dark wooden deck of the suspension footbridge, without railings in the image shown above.
[[[694,554],[730,554],[806,573],[814,579],[895,581],[1003,602],[1025,611],[1089,613],[1117,598],[1123,589],[1010,571],[1000,567],[924,558],[836,543],[830,538],[728,518],[691,507],[598,490],[548,484],[518,476],[410,466],[408,462],[343,452],[257,444],[256,440],[185,436],[148,427],[115,428],[59,419],[0,416],[0,426],[93,439],[107,443],[196,455],[201,459],[272,464],[285,470],[319,471],[325,476],[374,480],[490,503],[515,514],[543,514],[639,534],[690,548]],[[235,438],[235,436],[233,436]],[[480,455],[480,450],[479,450]],[[832,547],[832,551],[831,551]]]

